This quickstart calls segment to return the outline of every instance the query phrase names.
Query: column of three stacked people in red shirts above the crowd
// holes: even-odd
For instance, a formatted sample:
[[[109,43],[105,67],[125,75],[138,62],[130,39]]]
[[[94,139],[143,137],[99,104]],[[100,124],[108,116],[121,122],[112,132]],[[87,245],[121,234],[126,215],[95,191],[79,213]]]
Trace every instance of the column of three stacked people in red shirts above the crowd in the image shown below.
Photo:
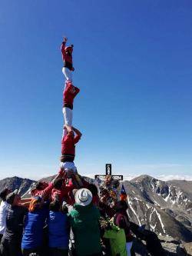
[[[81,138],[81,132],[72,126],[74,98],[80,89],[73,85],[73,45],[67,46],[68,38],[63,38],[61,43],[61,55],[64,66],[62,72],[65,75],[65,88],[63,91],[63,115],[64,127],[61,139],[61,169],[65,171],[68,178],[72,178],[78,187],[81,187],[81,179],[78,176],[77,168],[74,165],[75,145]]]

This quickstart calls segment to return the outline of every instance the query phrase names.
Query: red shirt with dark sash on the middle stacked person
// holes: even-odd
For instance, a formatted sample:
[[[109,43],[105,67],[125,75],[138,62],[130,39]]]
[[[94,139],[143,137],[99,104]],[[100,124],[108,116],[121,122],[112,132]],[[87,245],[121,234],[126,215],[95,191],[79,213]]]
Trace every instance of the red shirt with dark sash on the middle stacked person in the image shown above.
[[[71,81],[67,82],[65,90],[63,91],[63,106],[73,109],[73,102],[80,89],[75,87]]]

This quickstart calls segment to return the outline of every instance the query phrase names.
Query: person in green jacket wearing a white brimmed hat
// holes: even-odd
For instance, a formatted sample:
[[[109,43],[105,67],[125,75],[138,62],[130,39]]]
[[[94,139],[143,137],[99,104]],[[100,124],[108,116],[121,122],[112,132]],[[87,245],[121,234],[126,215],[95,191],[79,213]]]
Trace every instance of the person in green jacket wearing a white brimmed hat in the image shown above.
[[[92,204],[92,194],[81,188],[74,195],[75,204],[70,212],[74,233],[75,256],[101,256],[100,212]]]

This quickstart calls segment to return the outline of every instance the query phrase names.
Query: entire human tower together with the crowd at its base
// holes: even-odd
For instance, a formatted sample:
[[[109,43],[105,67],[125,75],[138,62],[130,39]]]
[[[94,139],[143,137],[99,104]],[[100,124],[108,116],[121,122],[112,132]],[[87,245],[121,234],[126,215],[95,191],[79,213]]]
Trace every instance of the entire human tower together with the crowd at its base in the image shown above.
[[[118,200],[118,181],[107,176],[98,182],[98,192],[96,185],[78,175],[74,158],[81,132],[72,121],[80,90],[72,84],[73,45],[66,46],[67,41],[64,38],[61,44],[66,81],[60,170],[51,183],[36,183],[30,198],[8,188],[1,192],[0,256],[130,256],[134,255],[131,225],[138,237],[147,237],[129,221],[126,193]],[[163,255],[160,247],[156,246],[155,256]]]

